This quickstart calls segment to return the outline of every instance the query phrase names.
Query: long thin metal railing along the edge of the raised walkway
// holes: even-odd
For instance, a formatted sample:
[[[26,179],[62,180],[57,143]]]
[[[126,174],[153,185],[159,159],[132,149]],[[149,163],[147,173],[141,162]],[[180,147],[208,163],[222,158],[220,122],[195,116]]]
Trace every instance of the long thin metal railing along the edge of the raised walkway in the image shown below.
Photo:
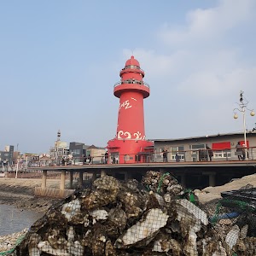
[[[207,149],[200,148],[195,150],[184,151],[167,151],[166,162],[203,162],[203,161],[235,161],[245,160],[245,155],[242,152],[237,152],[236,148],[226,149]],[[25,165],[18,165],[19,172],[26,172],[27,167],[42,167],[42,166],[83,166],[83,165],[103,165],[103,164],[119,164],[121,160],[124,164],[131,163],[131,159],[137,163],[145,162],[165,162],[163,152],[147,152],[145,154],[113,154],[108,155],[108,159],[105,155],[95,155],[91,159],[88,157],[73,157],[72,159],[63,160],[38,160],[29,161]],[[247,148],[247,159],[256,160],[256,147]],[[134,162],[134,161],[133,161]],[[10,168],[12,172],[15,172],[17,166]],[[7,167],[0,166],[0,172],[8,172]]]

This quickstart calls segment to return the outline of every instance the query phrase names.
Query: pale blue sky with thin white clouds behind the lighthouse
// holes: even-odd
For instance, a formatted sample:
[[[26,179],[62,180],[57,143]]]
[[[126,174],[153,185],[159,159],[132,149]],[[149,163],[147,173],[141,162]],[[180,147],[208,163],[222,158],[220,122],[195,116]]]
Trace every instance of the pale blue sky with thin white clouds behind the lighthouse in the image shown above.
[[[48,152],[58,130],[107,146],[131,55],[150,85],[148,139],[242,131],[233,109],[240,90],[256,108],[255,25],[254,0],[1,1],[0,150]]]

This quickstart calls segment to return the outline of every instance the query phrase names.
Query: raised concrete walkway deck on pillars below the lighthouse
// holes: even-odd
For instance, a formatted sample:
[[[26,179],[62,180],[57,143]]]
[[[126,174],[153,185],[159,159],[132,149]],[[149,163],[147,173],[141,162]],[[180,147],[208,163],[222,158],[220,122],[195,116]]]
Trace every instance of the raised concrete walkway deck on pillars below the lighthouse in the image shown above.
[[[171,173],[178,182],[187,188],[203,189],[207,186],[222,185],[232,178],[253,174],[256,171],[256,160],[229,160],[205,162],[150,162],[137,164],[97,164],[79,166],[37,166],[29,167],[28,171],[42,172],[41,188],[35,190],[36,195],[65,197],[73,192],[73,177],[78,176],[78,185],[83,187],[83,176],[93,181],[96,177],[111,175],[121,180],[135,178],[141,180],[143,175],[152,170]],[[48,173],[60,172],[60,189],[53,191],[47,188]],[[65,182],[69,177],[69,188]]]

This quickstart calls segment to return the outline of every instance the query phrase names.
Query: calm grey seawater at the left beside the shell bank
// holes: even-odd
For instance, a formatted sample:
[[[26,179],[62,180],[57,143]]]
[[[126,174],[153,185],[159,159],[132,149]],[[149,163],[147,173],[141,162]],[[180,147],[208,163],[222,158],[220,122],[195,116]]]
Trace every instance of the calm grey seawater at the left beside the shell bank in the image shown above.
[[[30,228],[44,213],[0,204],[0,236]]]

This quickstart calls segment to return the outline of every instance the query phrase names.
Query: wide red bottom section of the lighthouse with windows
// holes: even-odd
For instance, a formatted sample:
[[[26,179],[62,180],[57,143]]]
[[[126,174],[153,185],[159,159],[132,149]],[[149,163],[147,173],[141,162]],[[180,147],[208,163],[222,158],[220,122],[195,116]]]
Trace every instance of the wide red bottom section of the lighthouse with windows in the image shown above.
[[[145,140],[108,141],[108,163],[133,164],[150,162],[153,157],[154,143]]]

